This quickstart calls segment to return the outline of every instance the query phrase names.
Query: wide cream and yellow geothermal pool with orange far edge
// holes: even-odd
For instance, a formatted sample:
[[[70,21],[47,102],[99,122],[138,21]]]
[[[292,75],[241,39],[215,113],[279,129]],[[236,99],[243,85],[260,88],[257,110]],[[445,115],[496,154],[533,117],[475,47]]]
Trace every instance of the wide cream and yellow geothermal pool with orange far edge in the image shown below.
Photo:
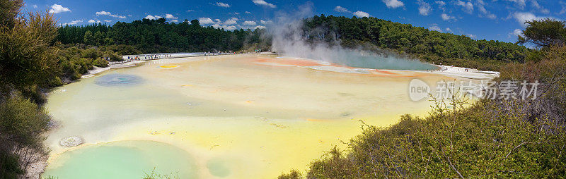
[[[423,68],[422,64],[418,66]],[[58,121],[44,177],[276,178],[344,149],[359,120],[387,126],[424,116],[410,80],[442,75],[350,68],[267,55],[171,58],[110,70],[54,90]],[[65,137],[84,144],[63,147]]]

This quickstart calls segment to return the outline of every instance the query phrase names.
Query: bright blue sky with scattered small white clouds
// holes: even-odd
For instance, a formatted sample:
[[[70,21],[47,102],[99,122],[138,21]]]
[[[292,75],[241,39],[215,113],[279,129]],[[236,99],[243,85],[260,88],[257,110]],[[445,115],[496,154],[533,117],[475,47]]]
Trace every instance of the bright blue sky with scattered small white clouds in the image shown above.
[[[238,0],[238,1],[25,1],[25,11],[50,11],[59,23],[114,24],[142,18],[169,22],[199,19],[201,25],[236,28],[266,27],[277,15],[311,4],[311,15],[371,16],[410,23],[430,30],[467,35],[474,39],[515,42],[525,20],[566,20],[566,0]]]

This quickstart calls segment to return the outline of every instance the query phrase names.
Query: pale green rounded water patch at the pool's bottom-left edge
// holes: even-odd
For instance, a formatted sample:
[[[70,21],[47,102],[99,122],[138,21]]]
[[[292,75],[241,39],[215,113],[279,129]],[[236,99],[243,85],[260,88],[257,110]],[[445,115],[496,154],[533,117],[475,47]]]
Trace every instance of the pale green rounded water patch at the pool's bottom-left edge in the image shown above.
[[[197,178],[192,156],[162,142],[120,141],[94,144],[64,152],[59,156],[62,166],[50,165],[44,177],[65,178],[143,178],[144,173],[169,175],[173,178]],[[218,161],[219,170],[221,161]],[[215,168],[212,168],[215,170]],[[229,171],[223,171],[224,173]]]

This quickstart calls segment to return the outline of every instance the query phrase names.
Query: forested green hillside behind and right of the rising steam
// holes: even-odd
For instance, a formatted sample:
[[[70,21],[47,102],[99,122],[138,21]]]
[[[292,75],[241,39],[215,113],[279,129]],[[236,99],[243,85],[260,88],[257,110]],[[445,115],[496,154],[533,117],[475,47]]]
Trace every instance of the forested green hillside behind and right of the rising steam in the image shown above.
[[[499,70],[503,63],[523,63],[530,54],[529,49],[514,43],[476,40],[373,17],[313,16],[304,20],[303,28],[304,37],[311,42],[388,49],[428,62],[486,70]]]

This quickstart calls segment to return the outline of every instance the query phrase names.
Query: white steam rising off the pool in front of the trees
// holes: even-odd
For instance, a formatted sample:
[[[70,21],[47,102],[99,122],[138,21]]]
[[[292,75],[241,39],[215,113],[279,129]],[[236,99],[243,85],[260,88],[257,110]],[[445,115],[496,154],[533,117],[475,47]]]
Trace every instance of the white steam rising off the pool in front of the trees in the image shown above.
[[[431,70],[435,66],[402,58],[391,52],[375,53],[362,48],[346,49],[340,39],[334,42],[308,42],[303,29],[304,18],[312,17],[312,5],[300,6],[295,13],[277,13],[276,25],[270,27],[272,51],[282,56],[311,58],[345,66],[393,70]]]

